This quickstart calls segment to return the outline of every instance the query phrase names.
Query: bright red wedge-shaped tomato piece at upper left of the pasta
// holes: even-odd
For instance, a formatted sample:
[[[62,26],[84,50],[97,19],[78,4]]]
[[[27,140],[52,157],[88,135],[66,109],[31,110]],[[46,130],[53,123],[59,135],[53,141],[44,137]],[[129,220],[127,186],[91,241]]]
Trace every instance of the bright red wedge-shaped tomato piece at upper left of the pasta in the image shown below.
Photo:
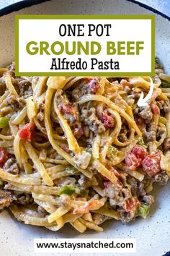
[[[35,134],[35,123],[30,121],[30,123],[25,124],[24,127],[19,130],[18,134],[20,139],[31,142]]]

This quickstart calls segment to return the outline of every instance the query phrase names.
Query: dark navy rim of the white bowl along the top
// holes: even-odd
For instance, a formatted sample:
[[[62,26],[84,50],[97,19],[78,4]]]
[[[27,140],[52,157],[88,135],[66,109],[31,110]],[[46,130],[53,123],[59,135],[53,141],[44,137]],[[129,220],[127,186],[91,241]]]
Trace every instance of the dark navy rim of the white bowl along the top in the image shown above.
[[[51,1],[51,0],[24,0],[24,1],[19,1],[17,3],[14,3],[14,4],[9,4],[7,7],[0,9],[0,17],[4,16],[6,14],[10,14],[12,12],[17,12],[20,9],[23,9],[26,7],[32,7],[36,4],[41,4],[45,1]],[[138,4],[140,7],[148,9],[149,11],[154,12],[154,13],[160,15],[161,17],[164,17],[165,19],[170,21],[170,17],[168,15],[164,14],[163,12],[159,12],[157,9],[154,9],[153,7],[150,7],[147,4],[143,4],[136,0],[125,0],[125,1],[129,1],[133,4]]]

